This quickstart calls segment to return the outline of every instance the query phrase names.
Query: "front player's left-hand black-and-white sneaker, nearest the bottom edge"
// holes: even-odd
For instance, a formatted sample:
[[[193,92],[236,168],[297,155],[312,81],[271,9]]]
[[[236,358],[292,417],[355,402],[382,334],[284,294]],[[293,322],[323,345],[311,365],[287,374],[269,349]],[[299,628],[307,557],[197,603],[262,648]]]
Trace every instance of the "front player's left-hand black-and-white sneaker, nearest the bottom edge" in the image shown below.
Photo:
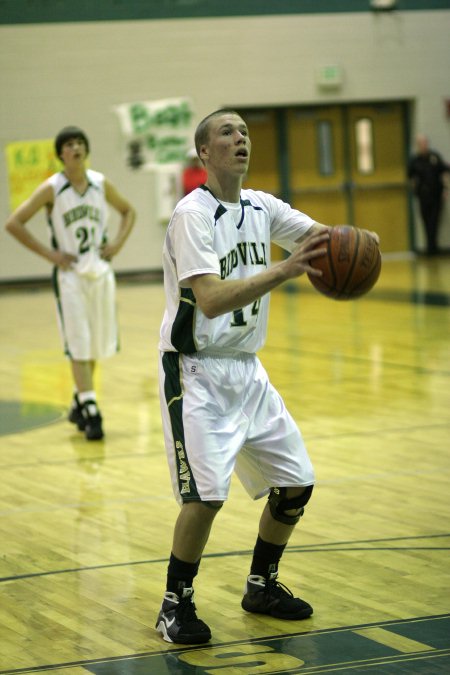
[[[211,639],[209,627],[197,618],[193,594],[193,588],[184,588],[181,598],[176,593],[164,594],[155,628],[166,642],[196,645]]]

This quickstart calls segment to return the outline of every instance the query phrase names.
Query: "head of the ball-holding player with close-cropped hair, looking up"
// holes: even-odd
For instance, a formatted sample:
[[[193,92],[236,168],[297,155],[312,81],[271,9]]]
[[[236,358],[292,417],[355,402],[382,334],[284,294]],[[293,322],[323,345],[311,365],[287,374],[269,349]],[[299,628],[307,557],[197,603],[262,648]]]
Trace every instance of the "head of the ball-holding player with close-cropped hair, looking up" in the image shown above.
[[[251,142],[247,125],[239,115],[225,113],[209,123],[208,142],[200,154],[209,171],[243,176],[248,171]]]

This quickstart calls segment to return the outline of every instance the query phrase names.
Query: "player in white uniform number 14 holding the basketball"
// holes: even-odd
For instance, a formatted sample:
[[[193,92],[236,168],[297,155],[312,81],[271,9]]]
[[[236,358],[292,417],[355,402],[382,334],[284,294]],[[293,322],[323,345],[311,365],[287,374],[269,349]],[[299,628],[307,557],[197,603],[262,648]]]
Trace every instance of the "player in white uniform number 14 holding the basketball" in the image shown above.
[[[268,495],[243,609],[293,620],[312,614],[277,575],[314,471],[256,352],[266,337],[269,292],[305,272],[320,276],[310,261],[329,238],[327,226],[289,204],[242,189],[251,144],[238,113],[208,115],[195,145],[207,181],[181,199],[168,226],[159,344],[164,438],[181,510],[156,629],[185,644],[211,638],[196,614],[193,581],[234,470],[253,499]],[[291,252],[273,266],[271,241]]]

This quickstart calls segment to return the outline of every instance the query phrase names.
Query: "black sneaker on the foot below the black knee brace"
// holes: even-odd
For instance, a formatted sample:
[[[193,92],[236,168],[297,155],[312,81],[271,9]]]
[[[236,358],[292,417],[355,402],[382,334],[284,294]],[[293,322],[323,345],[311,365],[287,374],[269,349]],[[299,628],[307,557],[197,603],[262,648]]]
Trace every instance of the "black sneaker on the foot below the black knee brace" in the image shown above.
[[[241,605],[247,612],[269,614],[277,619],[307,619],[313,613],[311,605],[294,598],[291,591],[277,581],[277,575],[266,579],[250,574]]]

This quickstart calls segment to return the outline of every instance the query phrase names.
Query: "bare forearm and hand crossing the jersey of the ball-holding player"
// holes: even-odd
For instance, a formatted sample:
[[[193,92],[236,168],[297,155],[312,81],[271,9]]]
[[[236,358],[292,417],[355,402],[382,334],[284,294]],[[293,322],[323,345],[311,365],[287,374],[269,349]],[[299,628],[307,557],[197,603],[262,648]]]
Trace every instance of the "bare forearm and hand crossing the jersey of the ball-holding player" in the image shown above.
[[[325,248],[315,246],[329,238],[328,228],[308,232],[293,253],[264,272],[248,279],[220,279],[214,274],[201,274],[190,278],[197,304],[208,319],[245,307],[288,279],[305,272],[320,276],[319,270],[311,267],[310,261],[326,253]]]

